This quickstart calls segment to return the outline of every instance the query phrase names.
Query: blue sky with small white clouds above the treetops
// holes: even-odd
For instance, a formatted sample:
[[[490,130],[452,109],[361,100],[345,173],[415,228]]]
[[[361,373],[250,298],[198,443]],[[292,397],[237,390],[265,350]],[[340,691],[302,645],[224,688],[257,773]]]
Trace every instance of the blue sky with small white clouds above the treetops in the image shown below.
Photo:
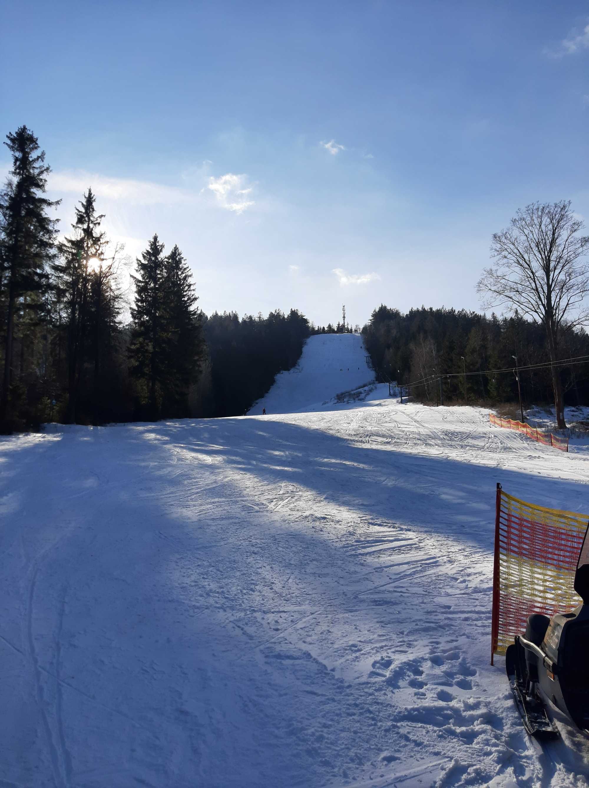
[[[2,135],[205,312],[478,309],[492,232],[589,218],[587,2],[2,2]],[[0,154],[6,172],[8,158]]]

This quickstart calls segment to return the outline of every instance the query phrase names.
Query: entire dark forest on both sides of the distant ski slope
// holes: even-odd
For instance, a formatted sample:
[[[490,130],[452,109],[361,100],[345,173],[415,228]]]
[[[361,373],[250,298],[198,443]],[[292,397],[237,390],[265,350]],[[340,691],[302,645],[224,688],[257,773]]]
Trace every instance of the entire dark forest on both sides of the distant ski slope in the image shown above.
[[[345,333],[304,314],[209,317],[197,306],[189,263],[154,234],[135,261],[102,229],[91,188],[68,228],[51,217],[45,154],[22,126],[7,136],[12,168],[0,191],[0,429],[42,422],[104,424],[241,415],[291,369],[308,336]],[[356,332],[359,326],[355,326]],[[381,305],[362,329],[381,381],[426,379],[411,393],[446,401],[517,398],[513,374],[487,370],[546,362],[546,332],[517,313],[490,318],[452,309]],[[589,354],[583,329],[563,330],[559,358]],[[569,402],[587,401],[586,366],[560,372]],[[466,372],[466,378],[460,373]],[[521,373],[525,400],[550,402],[547,370]]]

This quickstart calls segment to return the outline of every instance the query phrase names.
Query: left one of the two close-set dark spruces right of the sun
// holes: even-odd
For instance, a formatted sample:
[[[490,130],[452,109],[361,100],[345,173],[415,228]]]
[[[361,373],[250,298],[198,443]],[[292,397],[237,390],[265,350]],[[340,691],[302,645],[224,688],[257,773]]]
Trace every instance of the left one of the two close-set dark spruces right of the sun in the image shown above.
[[[157,235],[137,258],[138,276],[133,276],[135,303],[129,359],[131,375],[138,385],[139,400],[147,403],[149,417],[159,418],[169,375],[170,331],[166,303],[166,260],[164,244]]]

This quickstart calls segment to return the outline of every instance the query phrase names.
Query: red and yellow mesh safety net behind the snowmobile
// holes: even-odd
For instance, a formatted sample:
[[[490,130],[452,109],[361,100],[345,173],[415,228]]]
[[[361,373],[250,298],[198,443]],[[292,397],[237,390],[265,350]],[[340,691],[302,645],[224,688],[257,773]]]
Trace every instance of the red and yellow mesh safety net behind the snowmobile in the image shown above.
[[[497,485],[491,665],[522,634],[528,615],[569,612],[588,515],[527,504]]]

